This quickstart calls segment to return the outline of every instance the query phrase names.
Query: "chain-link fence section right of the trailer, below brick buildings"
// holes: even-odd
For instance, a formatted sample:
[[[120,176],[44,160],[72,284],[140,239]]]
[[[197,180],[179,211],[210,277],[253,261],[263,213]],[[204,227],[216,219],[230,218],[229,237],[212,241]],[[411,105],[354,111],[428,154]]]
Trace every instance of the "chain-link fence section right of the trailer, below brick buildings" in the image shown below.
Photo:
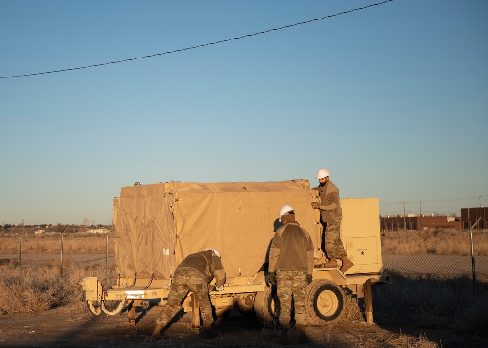
[[[383,265],[391,272],[488,279],[488,230],[387,231],[381,248]]]

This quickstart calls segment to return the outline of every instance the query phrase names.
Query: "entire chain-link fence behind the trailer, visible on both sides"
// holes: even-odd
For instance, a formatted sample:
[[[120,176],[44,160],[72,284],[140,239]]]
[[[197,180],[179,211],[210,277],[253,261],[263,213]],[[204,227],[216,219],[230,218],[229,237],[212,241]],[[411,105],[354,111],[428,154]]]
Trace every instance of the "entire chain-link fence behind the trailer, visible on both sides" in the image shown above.
[[[76,262],[115,269],[115,232],[1,234],[0,264],[20,268],[42,262],[59,266]],[[488,230],[398,230],[382,232],[382,262],[406,276],[467,276],[488,279]]]

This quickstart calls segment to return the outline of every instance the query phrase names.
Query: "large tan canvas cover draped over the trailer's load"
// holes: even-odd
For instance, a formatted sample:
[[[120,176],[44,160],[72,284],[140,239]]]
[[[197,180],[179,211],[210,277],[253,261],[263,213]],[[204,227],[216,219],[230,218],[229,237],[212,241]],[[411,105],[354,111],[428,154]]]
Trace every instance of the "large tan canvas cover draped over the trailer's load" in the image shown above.
[[[122,277],[168,279],[188,254],[220,251],[227,277],[252,277],[267,262],[285,205],[320,248],[319,211],[308,180],[123,187],[114,199],[116,262]]]

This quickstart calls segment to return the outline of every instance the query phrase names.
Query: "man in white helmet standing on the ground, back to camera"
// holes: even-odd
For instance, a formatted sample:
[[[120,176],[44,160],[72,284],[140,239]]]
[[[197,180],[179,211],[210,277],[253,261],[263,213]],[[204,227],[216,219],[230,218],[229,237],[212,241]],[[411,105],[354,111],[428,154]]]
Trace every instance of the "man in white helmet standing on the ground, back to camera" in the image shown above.
[[[280,221],[284,223],[276,231],[269,251],[269,281],[276,284],[280,299],[279,343],[288,343],[291,321],[291,299],[295,303],[295,322],[300,331],[300,343],[308,342],[305,332],[306,286],[312,282],[313,243],[308,232],[295,221],[295,211],[289,205],[280,209]]]

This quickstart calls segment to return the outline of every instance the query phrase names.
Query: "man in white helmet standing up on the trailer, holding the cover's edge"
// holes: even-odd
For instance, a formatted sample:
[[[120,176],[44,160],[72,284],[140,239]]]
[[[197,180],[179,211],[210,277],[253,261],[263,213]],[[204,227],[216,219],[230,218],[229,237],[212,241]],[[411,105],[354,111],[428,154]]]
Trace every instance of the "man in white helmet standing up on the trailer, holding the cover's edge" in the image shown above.
[[[337,267],[337,259],[341,259],[341,272],[345,273],[354,264],[347,257],[346,250],[341,240],[342,209],[339,198],[339,189],[330,181],[329,171],[321,168],[317,172],[319,186],[319,202],[312,202],[312,208],[320,209],[320,220],[323,226],[322,238],[325,252],[329,261],[324,267]]]

